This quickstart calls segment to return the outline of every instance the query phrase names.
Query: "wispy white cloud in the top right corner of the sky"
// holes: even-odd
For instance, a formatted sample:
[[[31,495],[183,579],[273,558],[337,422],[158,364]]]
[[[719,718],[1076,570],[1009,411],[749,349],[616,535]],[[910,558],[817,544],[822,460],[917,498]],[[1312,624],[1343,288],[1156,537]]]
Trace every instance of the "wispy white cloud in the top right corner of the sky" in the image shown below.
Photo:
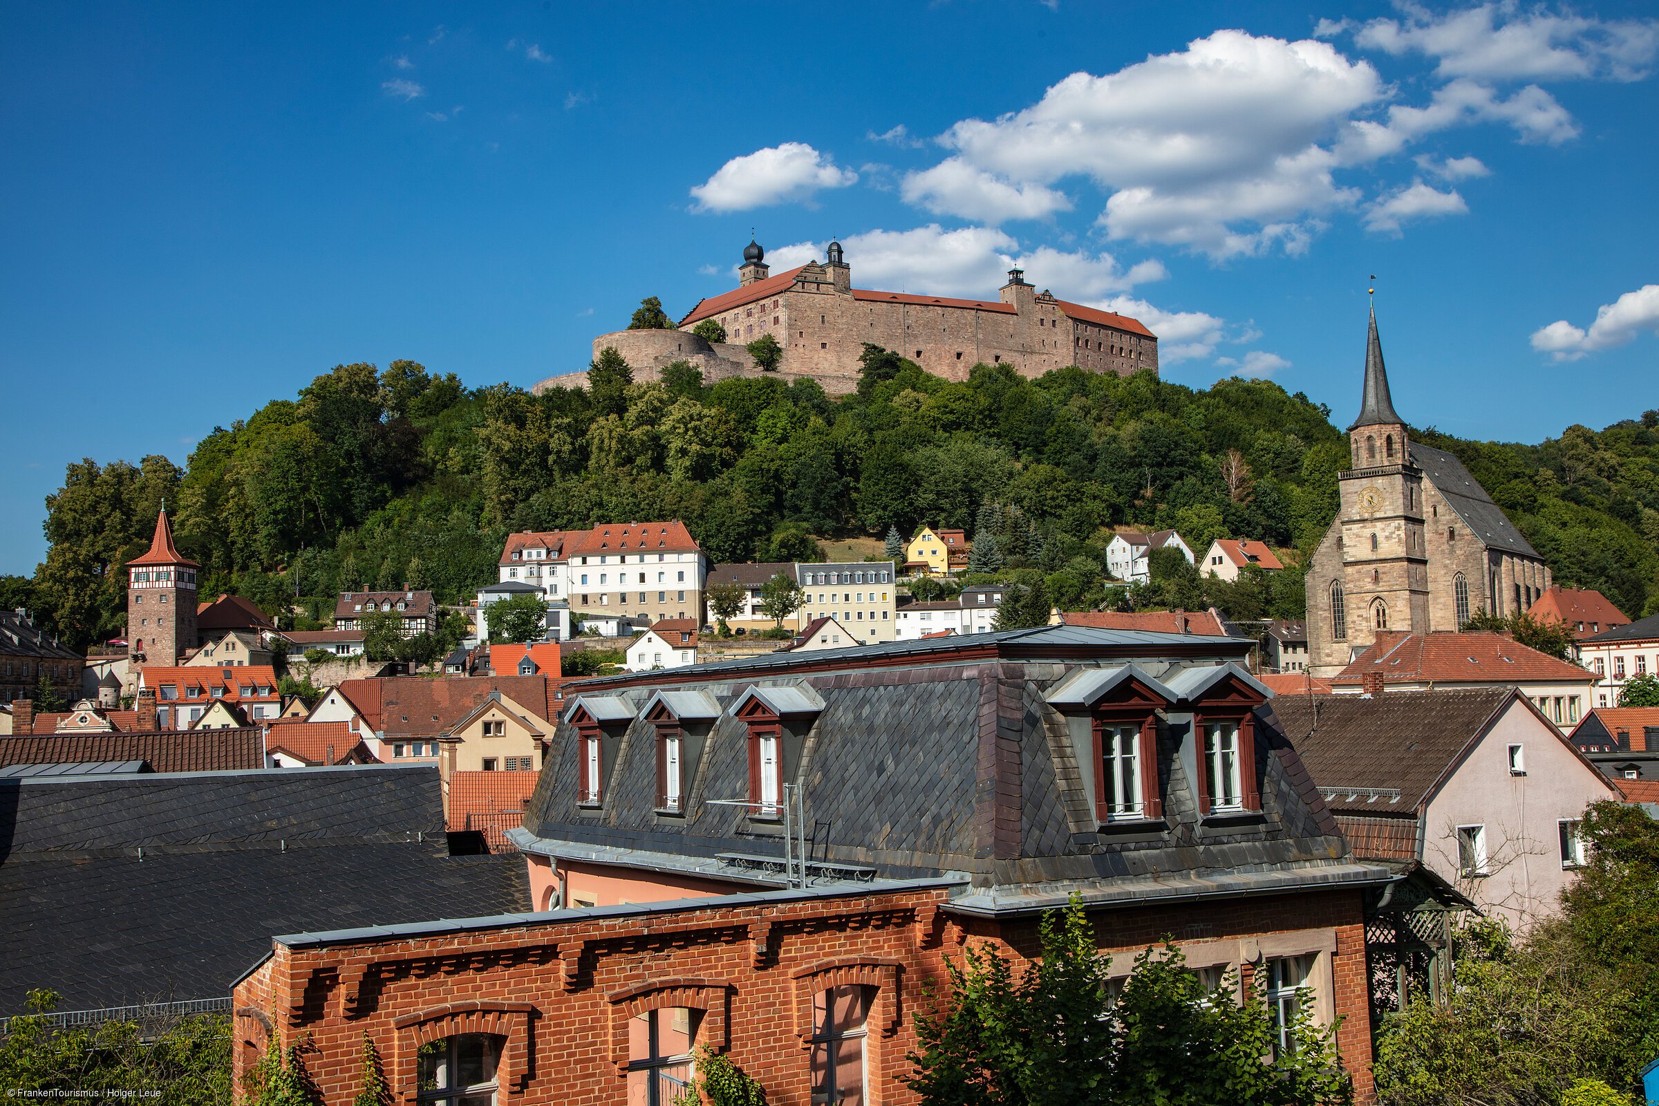
[[[1513,0],[1440,15],[1408,3],[1404,20],[1370,20],[1354,41],[1435,58],[1442,76],[1634,81],[1646,76],[1659,51],[1659,20],[1604,22],[1556,15],[1541,5],[1523,10]]]

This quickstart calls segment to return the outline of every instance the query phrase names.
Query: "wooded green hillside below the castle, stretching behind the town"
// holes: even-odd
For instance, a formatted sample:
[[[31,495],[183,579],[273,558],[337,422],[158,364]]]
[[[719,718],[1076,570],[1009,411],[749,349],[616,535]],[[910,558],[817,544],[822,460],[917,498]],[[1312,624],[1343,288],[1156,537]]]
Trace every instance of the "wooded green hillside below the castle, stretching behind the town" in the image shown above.
[[[705,386],[688,365],[635,385],[614,353],[586,391],[544,395],[466,388],[413,361],[340,365],[216,428],[182,469],[161,456],[71,464],[46,499],[45,564],[0,577],[0,602],[76,647],[119,633],[118,569],[163,499],[202,595],[267,610],[299,595],[314,618],[350,587],[465,599],[496,577],[516,529],[680,517],[713,560],[743,560],[801,555],[810,536],[964,527],[994,536],[1002,575],[1075,607],[1108,600],[1113,526],[1306,555],[1335,514],[1345,438],[1329,410],[1271,381],[1193,390],[979,365],[951,383],[874,347],[861,370],[858,391],[831,400],[770,376]],[[1631,615],[1659,610],[1659,411],[1536,446],[1422,439],[1468,464],[1558,582]],[[1130,599],[1219,599],[1238,617],[1292,617],[1302,602],[1296,569],[1254,589],[1186,580]]]

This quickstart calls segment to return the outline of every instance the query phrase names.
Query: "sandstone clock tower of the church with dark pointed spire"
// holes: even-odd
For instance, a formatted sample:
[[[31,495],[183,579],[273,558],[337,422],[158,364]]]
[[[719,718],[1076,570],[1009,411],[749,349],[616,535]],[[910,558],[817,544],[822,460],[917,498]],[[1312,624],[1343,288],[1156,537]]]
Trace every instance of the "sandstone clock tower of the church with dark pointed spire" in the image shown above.
[[[1337,633],[1345,627],[1342,637],[1355,652],[1384,630],[1428,632],[1423,474],[1407,444],[1405,420],[1389,395],[1374,303],[1360,411],[1349,426],[1352,468],[1337,478],[1342,572],[1329,599]]]

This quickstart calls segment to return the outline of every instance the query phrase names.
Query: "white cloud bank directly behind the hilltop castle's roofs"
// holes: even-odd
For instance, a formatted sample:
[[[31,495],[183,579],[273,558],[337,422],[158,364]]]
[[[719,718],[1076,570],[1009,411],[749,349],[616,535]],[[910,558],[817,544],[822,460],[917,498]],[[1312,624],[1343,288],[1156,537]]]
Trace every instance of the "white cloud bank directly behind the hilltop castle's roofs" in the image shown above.
[[[821,260],[828,242],[793,242],[766,250],[771,272],[785,272],[810,260]],[[1022,250],[1005,230],[939,224],[911,230],[866,230],[841,239],[853,277],[861,289],[990,298],[1007,280],[1009,269],[1024,269],[1025,279],[1058,295],[1092,300],[1125,292],[1136,284],[1163,280],[1168,272],[1158,260],[1143,260],[1128,270],[1110,254],[1065,252],[1048,245]],[[737,269],[732,269],[737,275]]]

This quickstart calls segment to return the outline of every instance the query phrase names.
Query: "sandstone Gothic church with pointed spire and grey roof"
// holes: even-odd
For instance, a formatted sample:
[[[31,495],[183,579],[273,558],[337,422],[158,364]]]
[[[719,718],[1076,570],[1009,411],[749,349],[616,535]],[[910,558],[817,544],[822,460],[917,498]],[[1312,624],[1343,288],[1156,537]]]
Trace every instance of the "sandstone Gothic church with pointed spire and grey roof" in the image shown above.
[[[1463,463],[1410,439],[1389,396],[1375,307],[1349,448],[1342,504],[1307,572],[1312,675],[1335,675],[1380,630],[1455,632],[1481,610],[1525,612],[1550,590],[1543,557]]]

